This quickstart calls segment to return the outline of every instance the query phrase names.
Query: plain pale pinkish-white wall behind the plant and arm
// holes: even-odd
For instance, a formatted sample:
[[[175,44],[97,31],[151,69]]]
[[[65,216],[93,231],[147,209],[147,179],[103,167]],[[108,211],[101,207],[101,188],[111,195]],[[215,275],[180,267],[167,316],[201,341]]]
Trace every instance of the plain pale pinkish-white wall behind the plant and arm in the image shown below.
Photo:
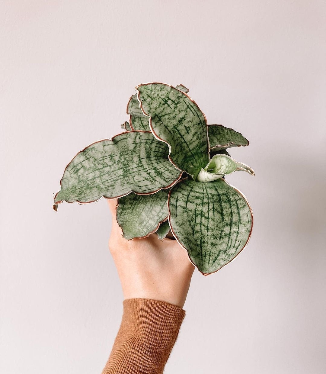
[[[52,210],[65,165],[179,83],[243,133],[247,248],[196,272],[166,373],[326,372],[326,3],[1,1],[0,372],[101,373],[122,314],[105,200]]]

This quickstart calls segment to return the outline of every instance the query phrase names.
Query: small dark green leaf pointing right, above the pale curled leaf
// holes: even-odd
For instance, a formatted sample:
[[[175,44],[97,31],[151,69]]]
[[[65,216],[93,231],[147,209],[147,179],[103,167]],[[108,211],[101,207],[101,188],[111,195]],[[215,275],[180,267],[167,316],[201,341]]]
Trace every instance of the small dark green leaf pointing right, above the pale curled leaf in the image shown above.
[[[249,141],[240,132],[222,125],[208,125],[208,138],[210,150],[214,151],[249,145]]]

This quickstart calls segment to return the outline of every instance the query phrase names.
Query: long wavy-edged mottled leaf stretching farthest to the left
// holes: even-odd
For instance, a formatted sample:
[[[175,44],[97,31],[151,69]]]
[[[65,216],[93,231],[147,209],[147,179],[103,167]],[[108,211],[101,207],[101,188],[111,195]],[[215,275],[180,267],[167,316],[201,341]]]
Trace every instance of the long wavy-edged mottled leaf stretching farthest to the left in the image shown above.
[[[55,203],[92,202],[133,191],[154,193],[172,186],[181,173],[167,158],[168,147],[151,132],[130,131],[93,143],[65,169]]]

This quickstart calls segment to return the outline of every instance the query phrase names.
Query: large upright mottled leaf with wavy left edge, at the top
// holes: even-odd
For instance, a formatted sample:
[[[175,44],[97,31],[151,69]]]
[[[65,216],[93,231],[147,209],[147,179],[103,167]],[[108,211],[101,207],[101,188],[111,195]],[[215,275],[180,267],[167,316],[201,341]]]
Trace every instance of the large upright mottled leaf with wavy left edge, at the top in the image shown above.
[[[209,161],[204,114],[188,95],[169,85],[148,83],[136,89],[143,112],[151,117],[151,131],[169,144],[170,160],[196,179]]]

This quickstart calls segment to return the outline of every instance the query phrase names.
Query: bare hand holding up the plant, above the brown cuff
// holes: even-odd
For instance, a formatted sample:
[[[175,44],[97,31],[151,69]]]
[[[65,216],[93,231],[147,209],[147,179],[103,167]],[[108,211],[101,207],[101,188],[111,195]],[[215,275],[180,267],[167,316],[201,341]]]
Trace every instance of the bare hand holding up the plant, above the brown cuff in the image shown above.
[[[124,299],[147,298],[183,307],[195,267],[176,240],[151,234],[126,240],[116,220],[117,199],[108,199],[112,214],[109,248]]]

